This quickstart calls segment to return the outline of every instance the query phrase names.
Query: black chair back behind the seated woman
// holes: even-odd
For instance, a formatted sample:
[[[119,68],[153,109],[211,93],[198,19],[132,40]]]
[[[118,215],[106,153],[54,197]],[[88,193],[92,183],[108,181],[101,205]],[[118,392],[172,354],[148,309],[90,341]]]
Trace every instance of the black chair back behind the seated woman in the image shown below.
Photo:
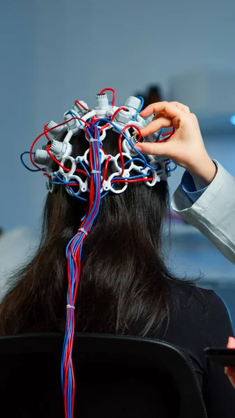
[[[62,418],[61,334],[0,337],[1,409]],[[75,418],[206,418],[181,348],[154,339],[75,334]]]

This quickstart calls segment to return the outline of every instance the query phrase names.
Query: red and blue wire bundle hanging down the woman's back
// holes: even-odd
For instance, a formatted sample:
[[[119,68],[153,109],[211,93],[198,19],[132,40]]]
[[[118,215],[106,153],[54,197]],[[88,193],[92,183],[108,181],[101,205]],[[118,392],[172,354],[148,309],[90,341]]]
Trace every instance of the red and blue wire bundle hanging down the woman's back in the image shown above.
[[[66,248],[68,268],[68,293],[67,293],[67,316],[66,332],[63,343],[63,354],[61,362],[61,382],[63,388],[64,410],[66,418],[73,418],[75,402],[75,378],[73,373],[73,339],[75,332],[75,301],[79,278],[81,274],[81,256],[84,238],[88,235],[93,222],[95,221],[100,208],[100,183],[101,183],[101,161],[99,131],[91,127],[86,132],[91,137],[89,160],[91,167],[91,183],[89,193],[89,206],[79,231]]]

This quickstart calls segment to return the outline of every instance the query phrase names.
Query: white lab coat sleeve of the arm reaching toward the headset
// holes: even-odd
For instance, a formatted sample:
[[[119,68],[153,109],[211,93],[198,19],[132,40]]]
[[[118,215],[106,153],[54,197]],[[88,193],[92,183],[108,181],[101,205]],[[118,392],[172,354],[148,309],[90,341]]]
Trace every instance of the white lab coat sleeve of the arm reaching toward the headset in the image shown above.
[[[195,203],[179,185],[171,206],[235,264],[235,178],[218,162],[216,164],[218,171],[214,180]]]

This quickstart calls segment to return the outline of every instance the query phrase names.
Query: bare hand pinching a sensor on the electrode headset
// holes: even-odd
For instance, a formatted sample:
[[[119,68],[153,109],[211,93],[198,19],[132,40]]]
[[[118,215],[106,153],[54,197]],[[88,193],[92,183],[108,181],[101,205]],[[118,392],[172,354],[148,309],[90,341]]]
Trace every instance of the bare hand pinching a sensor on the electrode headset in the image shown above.
[[[162,127],[173,126],[176,132],[169,141],[146,142],[136,148],[142,153],[171,158],[192,176],[202,178],[207,184],[211,183],[217,169],[206,152],[197,117],[190,113],[188,106],[178,102],[158,102],[146,107],[140,116],[147,117],[153,113],[156,114],[153,121],[141,130],[143,137],[158,132]]]

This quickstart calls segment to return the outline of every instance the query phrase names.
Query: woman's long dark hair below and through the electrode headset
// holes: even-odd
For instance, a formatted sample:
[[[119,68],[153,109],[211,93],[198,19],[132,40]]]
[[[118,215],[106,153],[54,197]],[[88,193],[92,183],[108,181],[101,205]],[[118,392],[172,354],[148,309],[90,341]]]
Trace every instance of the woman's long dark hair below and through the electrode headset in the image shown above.
[[[73,156],[88,148],[84,133],[73,137]],[[107,131],[107,153],[118,153],[117,134]],[[0,334],[64,331],[66,245],[77,233],[86,203],[63,186],[49,193],[36,256],[17,274],[0,305]],[[82,275],[75,304],[76,330],[145,336],[167,325],[177,279],[161,254],[162,222],[168,213],[167,182],[128,185],[109,192],[82,250]]]

